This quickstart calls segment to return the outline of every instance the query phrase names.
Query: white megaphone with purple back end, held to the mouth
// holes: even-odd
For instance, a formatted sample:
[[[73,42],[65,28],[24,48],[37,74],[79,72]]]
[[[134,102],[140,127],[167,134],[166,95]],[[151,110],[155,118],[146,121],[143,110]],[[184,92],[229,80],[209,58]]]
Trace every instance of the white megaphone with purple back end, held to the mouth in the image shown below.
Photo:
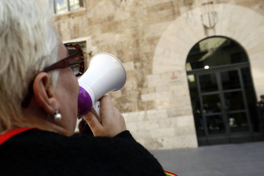
[[[78,117],[92,111],[100,120],[100,99],[110,91],[121,89],[126,83],[126,70],[122,62],[109,53],[92,57],[89,68],[78,79]]]

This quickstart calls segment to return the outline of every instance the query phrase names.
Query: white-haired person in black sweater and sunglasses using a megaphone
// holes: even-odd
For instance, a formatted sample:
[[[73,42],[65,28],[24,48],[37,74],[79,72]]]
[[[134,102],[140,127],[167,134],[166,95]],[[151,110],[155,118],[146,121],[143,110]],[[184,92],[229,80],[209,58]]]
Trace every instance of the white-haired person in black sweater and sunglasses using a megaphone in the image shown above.
[[[71,136],[82,50],[62,44],[47,3],[0,1],[0,174],[165,175],[108,96],[102,123],[91,112],[84,116],[95,137]]]

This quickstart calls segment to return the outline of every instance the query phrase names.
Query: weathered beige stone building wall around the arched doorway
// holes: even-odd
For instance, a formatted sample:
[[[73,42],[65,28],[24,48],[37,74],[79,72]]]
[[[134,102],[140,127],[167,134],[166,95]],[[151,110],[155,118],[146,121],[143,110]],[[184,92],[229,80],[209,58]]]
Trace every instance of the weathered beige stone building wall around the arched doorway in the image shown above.
[[[126,68],[110,92],[135,139],[150,150],[198,147],[186,75],[190,49],[225,36],[246,51],[256,96],[264,93],[263,0],[84,0],[55,15],[63,42],[84,43],[86,63],[101,52]],[[208,17],[208,18],[207,18]]]

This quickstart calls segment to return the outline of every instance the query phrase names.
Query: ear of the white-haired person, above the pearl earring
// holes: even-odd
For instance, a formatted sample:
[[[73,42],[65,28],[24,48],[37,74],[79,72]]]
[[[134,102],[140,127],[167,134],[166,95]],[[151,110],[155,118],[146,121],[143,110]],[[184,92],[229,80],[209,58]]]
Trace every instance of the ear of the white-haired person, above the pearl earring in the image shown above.
[[[54,88],[50,86],[50,78],[46,72],[40,72],[35,77],[33,92],[36,103],[48,114],[54,115],[55,110],[59,109],[59,104],[55,99]]]

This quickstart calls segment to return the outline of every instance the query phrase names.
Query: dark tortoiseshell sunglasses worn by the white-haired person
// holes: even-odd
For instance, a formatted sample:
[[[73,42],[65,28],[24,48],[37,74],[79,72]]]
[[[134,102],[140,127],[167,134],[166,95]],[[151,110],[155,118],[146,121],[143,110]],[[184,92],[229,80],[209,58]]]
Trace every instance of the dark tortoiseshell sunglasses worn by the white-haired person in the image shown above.
[[[80,44],[76,42],[71,42],[64,43],[64,46],[67,48],[69,56],[45,67],[42,72],[48,72],[50,70],[70,67],[76,77],[81,76],[84,73],[84,57]],[[21,103],[21,106],[23,108],[27,108],[29,106],[30,100],[33,95],[33,82],[34,79],[33,81],[31,81],[28,87],[28,94]]]

